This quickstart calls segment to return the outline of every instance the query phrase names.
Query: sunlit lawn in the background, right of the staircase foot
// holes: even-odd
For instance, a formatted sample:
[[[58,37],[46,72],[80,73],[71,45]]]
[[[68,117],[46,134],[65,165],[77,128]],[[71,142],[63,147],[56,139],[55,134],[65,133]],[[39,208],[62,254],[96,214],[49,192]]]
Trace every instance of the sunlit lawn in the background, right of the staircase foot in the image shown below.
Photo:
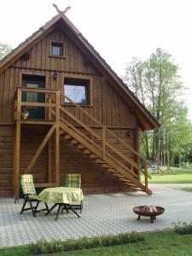
[[[161,168],[165,170],[165,168]],[[148,183],[159,184],[192,184],[192,169],[172,168],[174,174],[152,174],[150,171],[148,174],[152,177],[148,178]],[[144,181],[144,177],[141,176],[141,180]]]

